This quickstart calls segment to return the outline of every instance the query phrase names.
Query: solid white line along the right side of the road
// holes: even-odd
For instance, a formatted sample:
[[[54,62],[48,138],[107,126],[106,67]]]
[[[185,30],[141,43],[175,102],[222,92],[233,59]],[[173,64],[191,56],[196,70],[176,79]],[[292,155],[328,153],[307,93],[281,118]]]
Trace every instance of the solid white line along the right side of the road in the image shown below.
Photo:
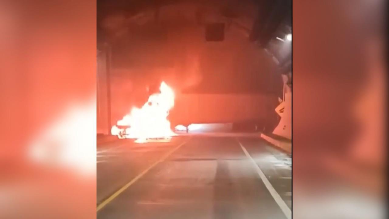
[[[262,172],[261,168],[259,168],[259,166],[257,165],[257,163],[254,161],[254,159],[251,157],[251,155],[249,154],[249,152],[247,152],[246,148],[242,145],[242,143],[240,143],[240,141],[237,139],[240,147],[242,148],[243,152],[245,153],[245,155],[251,160],[251,162],[254,164],[256,170],[257,170],[257,173],[259,175],[259,177],[261,177],[262,181],[263,181],[263,184],[265,184],[266,188],[268,189],[268,191],[270,192],[270,194],[273,196],[273,199],[275,200],[275,202],[277,203],[277,205],[281,208],[282,212],[284,212],[285,216],[288,218],[288,219],[291,219],[292,218],[292,211],[291,209],[286,205],[285,201],[282,200],[281,196],[277,193],[277,191],[275,191],[274,187],[272,184],[270,184],[269,180],[266,178],[265,174]]]

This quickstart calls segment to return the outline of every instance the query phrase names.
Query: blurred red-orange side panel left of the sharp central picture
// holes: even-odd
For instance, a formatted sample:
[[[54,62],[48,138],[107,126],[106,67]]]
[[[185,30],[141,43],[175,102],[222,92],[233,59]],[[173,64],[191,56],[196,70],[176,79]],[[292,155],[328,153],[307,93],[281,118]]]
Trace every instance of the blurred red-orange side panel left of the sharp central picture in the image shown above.
[[[96,2],[1,1],[0,31],[0,218],[95,218],[95,172],[63,165],[68,143],[60,136],[39,143],[56,148],[53,161],[34,162],[30,152],[68,112],[93,116]],[[95,122],[73,122],[95,133]]]

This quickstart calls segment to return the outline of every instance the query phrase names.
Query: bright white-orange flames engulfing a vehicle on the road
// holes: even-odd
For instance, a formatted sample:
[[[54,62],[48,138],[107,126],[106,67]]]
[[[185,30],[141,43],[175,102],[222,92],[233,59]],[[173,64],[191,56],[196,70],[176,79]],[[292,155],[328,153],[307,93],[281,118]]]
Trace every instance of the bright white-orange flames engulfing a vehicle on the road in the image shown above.
[[[152,94],[142,108],[132,108],[130,114],[112,126],[111,134],[119,138],[136,138],[144,143],[150,138],[170,138],[175,133],[167,119],[174,106],[174,91],[165,82],[159,87],[160,93]]]

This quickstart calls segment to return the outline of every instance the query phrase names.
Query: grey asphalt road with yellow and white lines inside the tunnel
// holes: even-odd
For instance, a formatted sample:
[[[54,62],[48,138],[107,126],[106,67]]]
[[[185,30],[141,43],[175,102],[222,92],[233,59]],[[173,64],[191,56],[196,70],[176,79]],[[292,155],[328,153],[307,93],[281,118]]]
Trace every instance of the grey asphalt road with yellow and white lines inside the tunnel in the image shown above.
[[[291,191],[291,157],[259,138],[176,136],[97,148],[97,218],[290,218]]]

